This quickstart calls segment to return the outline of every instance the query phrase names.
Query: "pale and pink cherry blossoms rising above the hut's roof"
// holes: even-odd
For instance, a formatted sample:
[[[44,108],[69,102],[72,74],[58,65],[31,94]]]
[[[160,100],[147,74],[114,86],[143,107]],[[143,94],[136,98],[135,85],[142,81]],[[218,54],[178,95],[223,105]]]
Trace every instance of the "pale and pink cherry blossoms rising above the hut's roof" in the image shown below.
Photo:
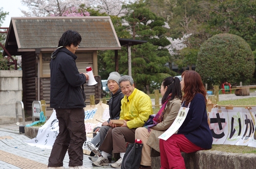
[[[67,10],[72,7],[78,9],[81,4],[100,13],[119,16],[123,14],[122,5],[135,1],[138,0],[21,0],[22,4],[29,8],[28,11],[22,10],[25,16],[63,16]]]

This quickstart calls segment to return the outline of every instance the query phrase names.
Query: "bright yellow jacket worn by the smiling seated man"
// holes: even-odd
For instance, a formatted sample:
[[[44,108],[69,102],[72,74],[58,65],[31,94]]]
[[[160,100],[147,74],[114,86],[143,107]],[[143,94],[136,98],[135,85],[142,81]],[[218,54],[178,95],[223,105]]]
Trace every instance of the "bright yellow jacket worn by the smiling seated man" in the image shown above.
[[[129,129],[142,127],[151,114],[153,114],[153,109],[150,96],[136,88],[129,98],[124,95],[121,100],[119,119],[128,120]]]

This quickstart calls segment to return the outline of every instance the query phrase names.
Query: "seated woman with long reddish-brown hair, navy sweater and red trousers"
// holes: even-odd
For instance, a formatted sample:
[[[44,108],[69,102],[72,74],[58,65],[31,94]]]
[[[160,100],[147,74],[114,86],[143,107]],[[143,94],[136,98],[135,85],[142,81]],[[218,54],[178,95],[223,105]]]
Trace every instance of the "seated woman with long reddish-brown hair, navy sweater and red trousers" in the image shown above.
[[[183,168],[185,162],[181,152],[192,153],[211,149],[212,134],[206,112],[206,91],[200,75],[194,70],[182,73],[181,89],[184,92],[182,107],[189,108],[187,116],[178,130],[166,141],[160,139],[161,168]]]

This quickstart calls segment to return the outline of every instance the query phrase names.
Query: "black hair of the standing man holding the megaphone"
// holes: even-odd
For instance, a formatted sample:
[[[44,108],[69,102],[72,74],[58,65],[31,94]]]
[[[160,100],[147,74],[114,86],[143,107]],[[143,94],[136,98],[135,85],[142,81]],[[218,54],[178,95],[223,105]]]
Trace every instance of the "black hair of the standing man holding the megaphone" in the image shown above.
[[[76,31],[72,31],[72,30],[68,30],[66,32],[64,32],[61,36],[61,38],[59,39],[59,46],[71,46],[71,44],[73,44],[74,46],[77,46],[82,40],[81,35],[76,32]]]

